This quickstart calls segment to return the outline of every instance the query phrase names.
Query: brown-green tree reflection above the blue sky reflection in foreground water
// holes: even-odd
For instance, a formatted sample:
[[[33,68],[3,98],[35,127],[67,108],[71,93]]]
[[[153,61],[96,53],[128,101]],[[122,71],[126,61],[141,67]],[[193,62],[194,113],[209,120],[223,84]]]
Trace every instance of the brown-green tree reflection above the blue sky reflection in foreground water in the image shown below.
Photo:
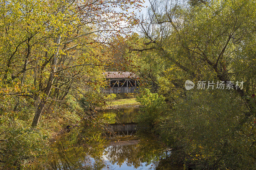
[[[126,161],[128,166],[138,168],[141,163],[156,165],[160,158],[164,158],[163,146],[151,140],[142,140],[137,145],[109,146],[106,149],[109,161],[121,166]]]

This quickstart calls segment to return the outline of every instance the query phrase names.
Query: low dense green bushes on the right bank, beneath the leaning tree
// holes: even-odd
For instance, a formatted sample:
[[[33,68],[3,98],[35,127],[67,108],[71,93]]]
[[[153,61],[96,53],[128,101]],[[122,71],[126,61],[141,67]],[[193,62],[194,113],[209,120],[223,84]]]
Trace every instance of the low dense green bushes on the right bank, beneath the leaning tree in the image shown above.
[[[244,117],[247,108],[235,93],[188,91],[173,110],[161,108],[166,104],[158,95],[145,94],[138,99],[145,106],[140,121],[154,122],[152,130],[162,141],[185,151],[187,168],[256,168],[256,122],[253,116]]]

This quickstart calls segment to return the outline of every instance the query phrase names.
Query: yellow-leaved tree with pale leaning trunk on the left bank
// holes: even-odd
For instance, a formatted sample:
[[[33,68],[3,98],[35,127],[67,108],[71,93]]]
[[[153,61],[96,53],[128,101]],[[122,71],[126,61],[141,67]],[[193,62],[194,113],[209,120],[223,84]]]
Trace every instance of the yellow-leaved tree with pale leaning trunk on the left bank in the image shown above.
[[[36,127],[51,95],[51,101],[63,102],[75,82],[85,83],[81,78],[88,79],[89,71],[109,64],[101,44],[136,24],[126,10],[140,7],[139,3],[31,0],[1,4],[2,100],[16,100],[14,111],[20,100],[32,100],[36,106],[32,127]],[[122,21],[127,25],[121,26]]]

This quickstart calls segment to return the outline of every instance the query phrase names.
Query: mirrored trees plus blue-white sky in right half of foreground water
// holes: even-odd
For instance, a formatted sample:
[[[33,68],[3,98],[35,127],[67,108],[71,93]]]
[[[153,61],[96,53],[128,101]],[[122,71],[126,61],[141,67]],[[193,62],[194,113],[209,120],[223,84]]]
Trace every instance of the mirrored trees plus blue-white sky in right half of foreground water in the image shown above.
[[[105,161],[113,169],[155,169],[160,158],[165,158],[165,148],[152,138],[144,138],[138,144],[121,141],[105,149]],[[109,167],[110,168],[110,167]]]

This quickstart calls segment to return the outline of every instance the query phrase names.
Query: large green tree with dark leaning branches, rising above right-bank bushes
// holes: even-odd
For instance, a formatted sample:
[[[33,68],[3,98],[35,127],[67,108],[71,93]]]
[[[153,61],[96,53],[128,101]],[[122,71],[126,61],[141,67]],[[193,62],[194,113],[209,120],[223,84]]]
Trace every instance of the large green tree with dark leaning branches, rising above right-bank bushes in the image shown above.
[[[148,39],[146,48],[131,51],[155,50],[195,79],[214,78],[225,84],[244,81],[247,92],[235,83],[233,88],[251,113],[255,112],[253,102],[245,97],[254,93],[251,86],[254,78],[249,76],[254,74],[254,54],[248,49],[254,47],[254,3],[210,1],[199,6],[185,6],[186,3],[176,1],[150,3],[148,18],[141,20],[142,33]]]

